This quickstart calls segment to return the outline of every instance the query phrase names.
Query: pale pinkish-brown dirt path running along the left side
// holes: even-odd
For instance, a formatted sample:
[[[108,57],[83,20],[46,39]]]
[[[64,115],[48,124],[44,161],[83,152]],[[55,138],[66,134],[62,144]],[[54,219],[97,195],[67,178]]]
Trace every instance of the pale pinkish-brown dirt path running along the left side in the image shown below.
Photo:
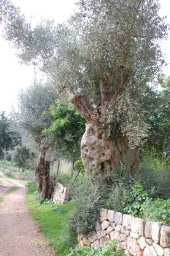
[[[12,186],[17,191],[4,195]],[[26,187],[0,172],[0,256],[48,256],[55,255],[47,241],[38,233],[35,221],[24,204]]]

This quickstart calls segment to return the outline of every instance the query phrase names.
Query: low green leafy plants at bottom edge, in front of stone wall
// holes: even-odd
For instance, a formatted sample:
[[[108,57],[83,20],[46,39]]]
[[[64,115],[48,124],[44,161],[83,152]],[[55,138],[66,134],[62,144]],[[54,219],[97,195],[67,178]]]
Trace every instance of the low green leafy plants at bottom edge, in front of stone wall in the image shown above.
[[[76,246],[75,249],[71,249],[70,253],[66,256],[125,256],[123,250],[116,250],[116,242],[105,243],[104,247],[94,250],[90,247],[80,248]]]

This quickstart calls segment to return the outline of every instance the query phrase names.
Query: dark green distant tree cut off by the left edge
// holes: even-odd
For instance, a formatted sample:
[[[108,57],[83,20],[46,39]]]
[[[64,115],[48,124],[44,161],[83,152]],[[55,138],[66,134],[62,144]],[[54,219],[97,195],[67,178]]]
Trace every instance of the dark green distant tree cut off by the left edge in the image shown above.
[[[17,132],[10,130],[10,120],[5,116],[4,111],[0,113],[0,157],[4,156],[4,150],[9,150],[20,143],[20,136]]]

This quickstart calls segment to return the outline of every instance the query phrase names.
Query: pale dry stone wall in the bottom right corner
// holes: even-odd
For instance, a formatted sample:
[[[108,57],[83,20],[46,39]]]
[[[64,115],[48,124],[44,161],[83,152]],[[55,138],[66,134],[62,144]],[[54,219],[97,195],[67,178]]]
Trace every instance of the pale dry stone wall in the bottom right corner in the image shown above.
[[[100,209],[100,221],[89,234],[78,234],[80,246],[97,249],[116,240],[128,256],[170,256],[170,226]]]

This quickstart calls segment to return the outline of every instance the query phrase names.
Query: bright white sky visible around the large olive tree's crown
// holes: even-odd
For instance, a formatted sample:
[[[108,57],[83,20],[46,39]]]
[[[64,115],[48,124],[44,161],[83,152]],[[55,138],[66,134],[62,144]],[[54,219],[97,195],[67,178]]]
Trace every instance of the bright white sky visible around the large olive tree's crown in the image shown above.
[[[33,22],[41,18],[54,19],[56,22],[65,21],[73,12],[76,0],[12,0],[15,6],[29,20]],[[170,1],[160,0],[162,6],[161,15],[167,16],[170,23]],[[170,40],[162,42],[162,51],[166,54],[167,67],[164,68],[167,76],[170,76]],[[17,96],[22,88],[29,86],[34,79],[35,73],[32,67],[21,65],[15,50],[10,44],[0,37],[0,111],[9,113],[12,106],[17,104]]]

